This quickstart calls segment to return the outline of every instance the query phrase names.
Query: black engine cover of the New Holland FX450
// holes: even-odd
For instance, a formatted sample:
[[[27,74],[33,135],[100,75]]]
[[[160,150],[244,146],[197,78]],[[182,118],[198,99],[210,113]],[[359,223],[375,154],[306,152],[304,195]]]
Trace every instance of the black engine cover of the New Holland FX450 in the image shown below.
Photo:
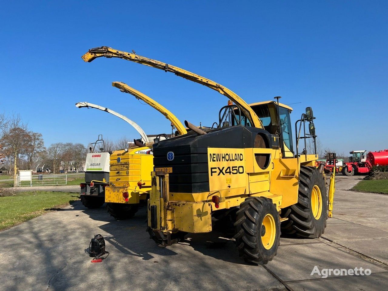
[[[278,146],[272,144],[271,134],[266,130],[250,126],[216,128],[204,135],[191,131],[154,144],[154,167],[172,167],[172,173],[169,174],[170,192],[208,192],[208,147],[253,148],[258,133],[266,137],[267,147]],[[167,158],[168,152],[173,152],[174,158],[171,161]]]

